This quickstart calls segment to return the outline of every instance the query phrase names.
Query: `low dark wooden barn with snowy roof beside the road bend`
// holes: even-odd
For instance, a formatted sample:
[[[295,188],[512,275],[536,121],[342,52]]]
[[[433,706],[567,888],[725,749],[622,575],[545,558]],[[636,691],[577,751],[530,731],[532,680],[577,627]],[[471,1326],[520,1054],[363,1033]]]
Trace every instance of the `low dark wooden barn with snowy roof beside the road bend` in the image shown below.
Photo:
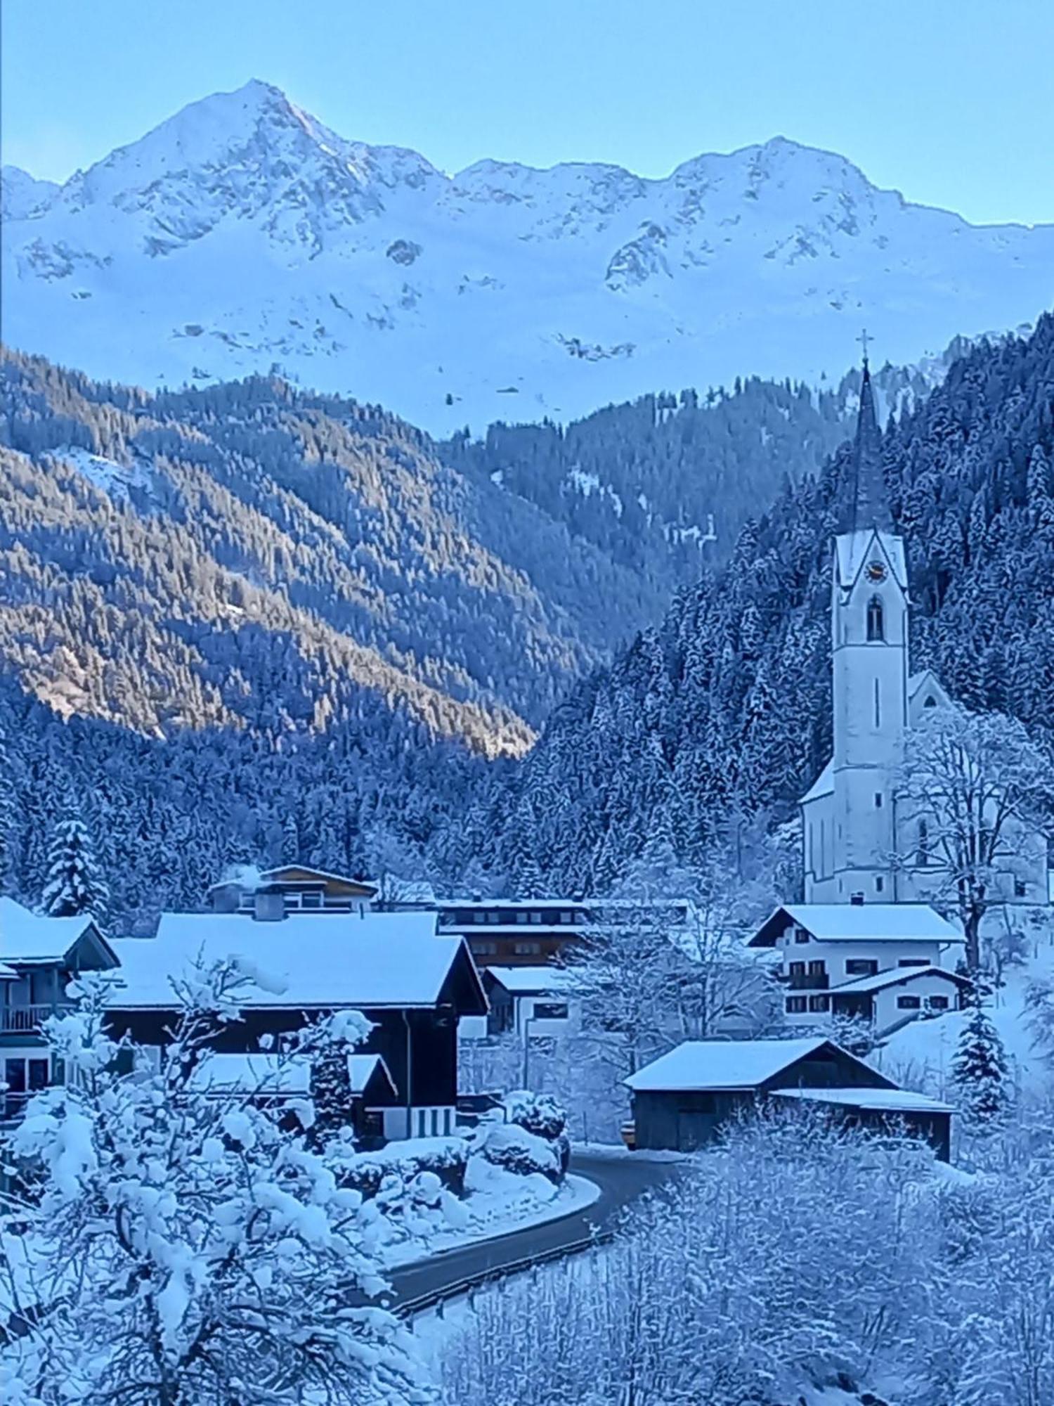
[[[898,1088],[861,1059],[822,1038],[687,1040],[625,1080],[637,1147],[694,1152],[729,1123],[774,1101],[814,1102],[845,1126],[881,1132],[904,1126],[942,1161],[951,1146],[951,1112],[925,1094]]]

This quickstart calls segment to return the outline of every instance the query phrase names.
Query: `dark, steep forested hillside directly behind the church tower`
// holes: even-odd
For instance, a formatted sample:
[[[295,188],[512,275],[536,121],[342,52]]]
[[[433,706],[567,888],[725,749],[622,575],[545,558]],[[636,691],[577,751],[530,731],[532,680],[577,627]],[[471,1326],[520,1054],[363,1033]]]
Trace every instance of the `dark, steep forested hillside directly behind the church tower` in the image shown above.
[[[913,666],[1054,740],[1054,318],[982,344],[892,425]],[[469,852],[516,887],[599,889],[646,852],[698,859],[793,813],[831,747],[829,550],[850,453],[788,484],[731,561],[682,591],[554,713]]]

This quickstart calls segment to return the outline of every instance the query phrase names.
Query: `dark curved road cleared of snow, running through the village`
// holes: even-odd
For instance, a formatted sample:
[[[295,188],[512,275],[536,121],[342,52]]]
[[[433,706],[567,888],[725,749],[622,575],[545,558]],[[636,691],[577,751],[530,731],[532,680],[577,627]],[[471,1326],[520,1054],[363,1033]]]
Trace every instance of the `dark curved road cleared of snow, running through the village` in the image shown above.
[[[499,1270],[505,1264],[514,1264],[542,1250],[573,1244],[586,1239],[594,1229],[610,1229],[624,1206],[646,1191],[661,1187],[677,1173],[679,1164],[638,1161],[635,1157],[596,1157],[587,1150],[576,1150],[571,1159],[571,1170],[600,1187],[600,1197],[592,1206],[572,1212],[562,1220],[524,1226],[523,1230],[467,1244],[461,1250],[445,1250],[427,1260],[403,1264],[389,1274],[392,1303],[398,1306],[406,1299],[416,1299],[422,1294],[458,1284],[471,1274]]]

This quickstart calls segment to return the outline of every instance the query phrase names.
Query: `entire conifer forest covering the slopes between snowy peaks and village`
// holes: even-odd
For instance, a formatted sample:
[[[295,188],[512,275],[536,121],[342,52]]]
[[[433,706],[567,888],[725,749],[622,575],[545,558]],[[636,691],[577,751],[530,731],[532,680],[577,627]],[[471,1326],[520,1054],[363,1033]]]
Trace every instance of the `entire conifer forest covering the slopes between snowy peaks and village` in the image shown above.
[[[1054,319],[960,350],[926,396],[887,377],[913,666],[1050,745]],[[266,378],[148,395],[17,353],[1,374],[28,901],[70,794],[142,931],[249,859],[604,891],[780,824],[826,758],[852,381],[436,446]]]

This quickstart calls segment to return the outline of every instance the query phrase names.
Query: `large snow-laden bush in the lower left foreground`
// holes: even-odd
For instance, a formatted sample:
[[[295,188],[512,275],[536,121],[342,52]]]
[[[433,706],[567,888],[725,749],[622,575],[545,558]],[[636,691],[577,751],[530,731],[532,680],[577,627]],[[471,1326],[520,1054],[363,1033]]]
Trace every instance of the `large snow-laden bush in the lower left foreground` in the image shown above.
[[[129,1046],[122,1073],[98,979],[49,1022],[72,1077],[38,1094],[11,1135],[10,1152],[42,1180],[39,1197],[14,1208],[24,1233],[0,1225],[0,1298],[35,1310],[25,1334],[0,1344],[6,1400],[424,1399],[409,1334],[371,1303],[385,1286],[375,1209],[252,1095],[195,1084],[243,984],[221,965],[183,986],[160,1071]],[[306,1031],[298,1054],[330,1039],[336,1021]],[[416,1194],[433,1201],[434,1187]]]

